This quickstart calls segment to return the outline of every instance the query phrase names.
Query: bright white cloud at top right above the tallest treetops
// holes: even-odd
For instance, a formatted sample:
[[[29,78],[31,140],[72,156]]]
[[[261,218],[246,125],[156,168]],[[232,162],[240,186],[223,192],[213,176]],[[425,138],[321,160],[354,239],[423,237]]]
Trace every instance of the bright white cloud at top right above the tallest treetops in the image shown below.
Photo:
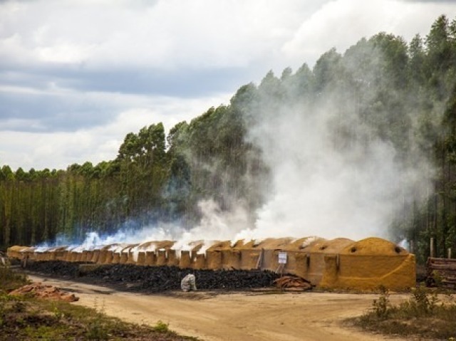
[[[296,56],[306,56],[308,61],[314,62],[324,51],[335,47],[343,53],[359,39],[370,38],[382,31],[410,41],[417,33],[427,34],[437,16],[445,13],[456,13],[456,4],[441,1],[328,1],[301,23],[282,51],[291,60]],[[299,64],[299,61],[295,63]]]

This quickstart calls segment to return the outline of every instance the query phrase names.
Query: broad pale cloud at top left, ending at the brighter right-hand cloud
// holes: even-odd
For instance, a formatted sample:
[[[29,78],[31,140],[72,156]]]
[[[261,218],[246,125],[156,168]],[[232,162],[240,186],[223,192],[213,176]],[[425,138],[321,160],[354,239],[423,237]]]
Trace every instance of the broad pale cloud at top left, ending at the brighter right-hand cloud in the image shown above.
[[[13,39],[14,49],[36,63],[93,68],[249,65],[289,38],[301,20],[296,14],[306,11],[301,1],[227,0],[167,0],[151,6],[33,1],[15,11],[9,7],[0,7],[6,53]]]

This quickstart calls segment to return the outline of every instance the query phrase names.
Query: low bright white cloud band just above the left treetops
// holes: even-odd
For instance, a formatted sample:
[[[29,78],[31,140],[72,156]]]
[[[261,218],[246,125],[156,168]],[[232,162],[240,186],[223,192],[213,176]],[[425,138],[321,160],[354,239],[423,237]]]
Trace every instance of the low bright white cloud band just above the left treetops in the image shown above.
[[[97,94],[92,94],[93,96]],[[35,131],[21,129],[19,126],[38,125],[29,120],[0,120],[0,164],[9,164],[13,169],[66,169],[70,164],[89,161],[97,164],[115,159],[120,144],[128,132],[138,132],[141,127],[163,122],[169,130],[182,120],[190,120],[200,115],[210,106],[227,103],[229,94],[208,98],[169,98],[98,94],[103,102],[112,100],[135,103],[138,107],[125,109],[112,115],[104,125],[84,127],[76,131]],[[7,162],[6,162],[7,161]]]

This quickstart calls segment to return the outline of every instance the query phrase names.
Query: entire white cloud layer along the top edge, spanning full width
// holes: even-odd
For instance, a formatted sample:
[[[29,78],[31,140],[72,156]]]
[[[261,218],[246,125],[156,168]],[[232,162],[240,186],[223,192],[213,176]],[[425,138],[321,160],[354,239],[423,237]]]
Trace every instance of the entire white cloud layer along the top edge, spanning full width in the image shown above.
[[[6,2],[0,58],[88,69],[284,68],[379,31],[409,40],[454,13],[455,3],[398,0]]]

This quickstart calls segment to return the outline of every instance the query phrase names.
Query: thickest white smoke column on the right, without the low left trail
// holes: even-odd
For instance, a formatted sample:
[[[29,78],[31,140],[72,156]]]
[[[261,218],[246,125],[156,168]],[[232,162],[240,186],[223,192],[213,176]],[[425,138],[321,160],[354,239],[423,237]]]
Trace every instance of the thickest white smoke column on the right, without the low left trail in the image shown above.
[[[271,169],[274,194],[258,211],[256,226],[240,237],[385,236],[400,197],[403,172],[388,142],[333,144],[333,112],[281,110],[254,127]]]

